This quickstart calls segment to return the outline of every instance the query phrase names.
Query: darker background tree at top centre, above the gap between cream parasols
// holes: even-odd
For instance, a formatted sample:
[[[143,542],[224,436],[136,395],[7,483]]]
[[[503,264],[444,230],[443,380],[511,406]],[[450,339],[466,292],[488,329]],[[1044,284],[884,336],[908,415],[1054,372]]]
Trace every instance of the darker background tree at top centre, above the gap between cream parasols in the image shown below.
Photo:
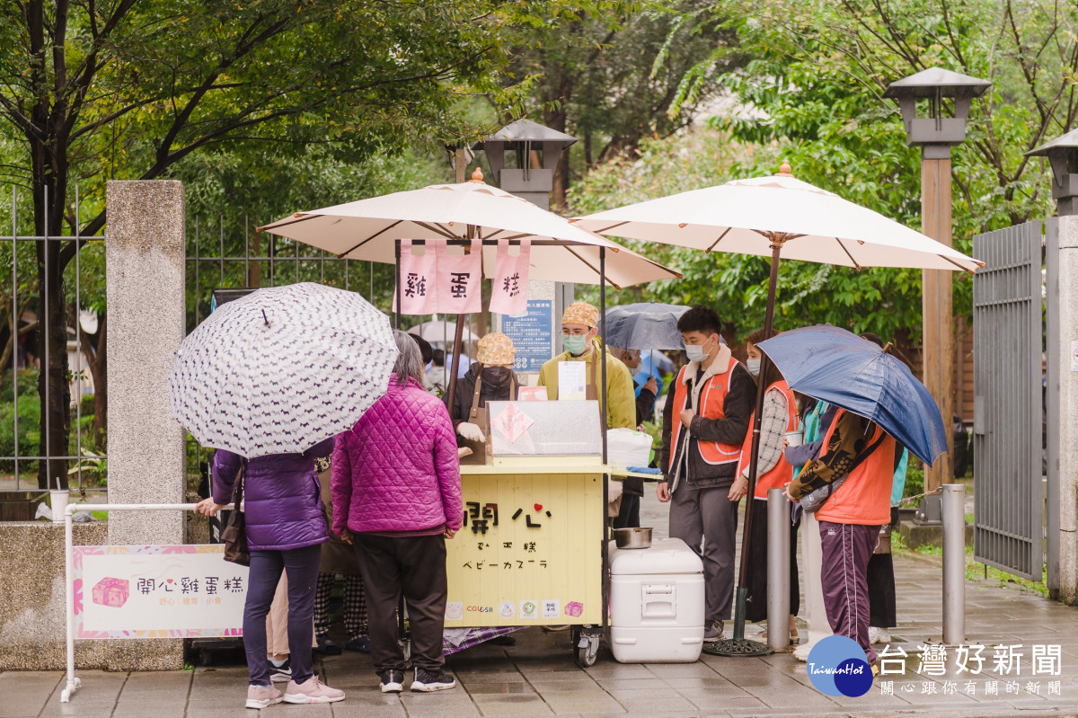
[[[740,60],[735,33],[717,22],[692,23],[701,0],[609,0],[563,6],[529,36],[512,70],[535,77],[528,109],[573,135],[580,144],[563,158],[552,206],[579,176],[611,157],[635,152],[646,138],[668,137],[719,89],[721,72]],[[677,106],[680,112],[671,112]],[[536,112],[537,115],[540,112]]]

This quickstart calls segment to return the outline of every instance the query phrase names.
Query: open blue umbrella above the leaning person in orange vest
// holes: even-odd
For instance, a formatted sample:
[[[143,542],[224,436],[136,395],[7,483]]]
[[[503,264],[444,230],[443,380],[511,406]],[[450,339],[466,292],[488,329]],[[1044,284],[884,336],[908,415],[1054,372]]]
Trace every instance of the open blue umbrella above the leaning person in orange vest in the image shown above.
[[[760,342],[794,391],[872,419],[929,466],[946,451],[932,396],[897,357],[845,329],[817,325]]]

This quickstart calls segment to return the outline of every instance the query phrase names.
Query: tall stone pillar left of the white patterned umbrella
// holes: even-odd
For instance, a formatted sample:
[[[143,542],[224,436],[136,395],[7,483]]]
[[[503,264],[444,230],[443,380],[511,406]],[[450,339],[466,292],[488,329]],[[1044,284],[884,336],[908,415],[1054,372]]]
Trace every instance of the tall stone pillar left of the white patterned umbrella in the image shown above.
[[[183,341],[183,184],[111,181],[107,207],[109,502],[180,503],[185,434],[168,374]],[[109,543],[182,543],[183,521],[179,511],[114,512]]]

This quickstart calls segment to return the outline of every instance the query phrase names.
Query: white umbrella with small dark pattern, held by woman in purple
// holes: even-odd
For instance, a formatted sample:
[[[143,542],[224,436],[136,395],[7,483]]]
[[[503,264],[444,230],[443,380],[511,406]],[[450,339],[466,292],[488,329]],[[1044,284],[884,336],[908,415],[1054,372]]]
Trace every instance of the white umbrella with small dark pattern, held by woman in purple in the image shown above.
[[[389,318],[355,292],[259,289],[183,340],[168,377],[172,416],[204,446],[303,452],[355,425],[386,392],[397,356]]]

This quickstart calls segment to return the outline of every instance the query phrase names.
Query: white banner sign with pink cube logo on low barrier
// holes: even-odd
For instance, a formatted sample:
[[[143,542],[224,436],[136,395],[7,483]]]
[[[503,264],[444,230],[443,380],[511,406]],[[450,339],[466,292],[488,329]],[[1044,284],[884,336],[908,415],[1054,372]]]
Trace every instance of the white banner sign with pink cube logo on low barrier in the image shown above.
[[[74,547],[78,638],[243,634],[246,566],[222,544]]]

